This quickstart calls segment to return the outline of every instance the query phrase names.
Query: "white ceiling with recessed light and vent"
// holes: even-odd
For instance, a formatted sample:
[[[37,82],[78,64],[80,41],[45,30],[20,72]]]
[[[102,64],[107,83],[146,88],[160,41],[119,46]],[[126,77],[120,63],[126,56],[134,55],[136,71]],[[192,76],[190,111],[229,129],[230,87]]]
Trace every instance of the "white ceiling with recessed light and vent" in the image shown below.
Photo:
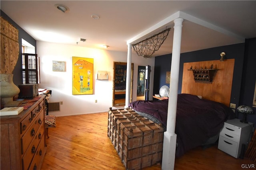
[[[67,6],[68,11],[61,12],[55,4]],[[256,37],[255,0],[1,0],[0,8],[37,41],[90,48],[109,45],[107,50],[111,51],[126,52],[127,41],[172,18],[178,11],[185,16],[181,53],[242,43],[244,39]],[[92,19],[92,14],[100,19]],[[154,56],[172,53],[173,26],[170,21],[142,37],[171,27],[166,41]],[[82,42],[80,38],[87,41]]]

